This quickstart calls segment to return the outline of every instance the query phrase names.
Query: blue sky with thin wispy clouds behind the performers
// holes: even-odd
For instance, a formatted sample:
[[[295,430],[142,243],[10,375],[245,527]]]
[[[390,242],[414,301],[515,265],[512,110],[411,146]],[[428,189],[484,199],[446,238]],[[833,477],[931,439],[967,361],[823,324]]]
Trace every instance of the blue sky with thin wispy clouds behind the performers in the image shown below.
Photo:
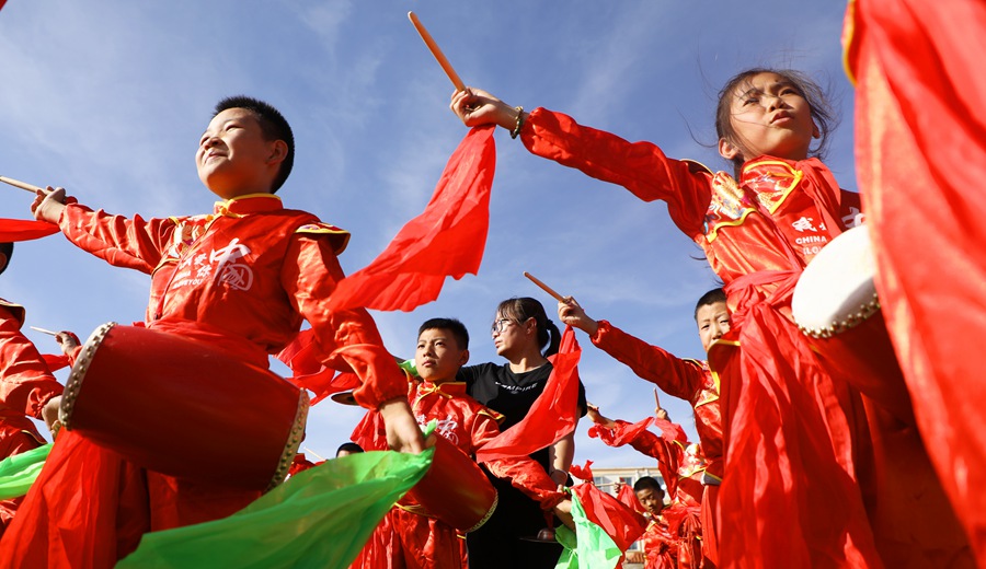
[[[406,1],[127,2],[10,0],[0,11],[0,174],[113,213],[211,209],[193,162],[217,100],[273,103],[297,140],[279,191],[353,232],[347,272],[368,264],[427,202],[466,129],[448,111],[452,86],[408,22],[414,10],[467,84],[513,105],[546,106],[674,158],[713,169],[715,93],[755,66],[801,69],[828,85],[841,115],[827,163],[856,189],[852,100],[841,71],[841,2],[667,0],[495,3]],[[414,313],[374,313],[391,352],[413,355],[421,322],[462,320],[475,363],[500,361],[488,330],[496,304],[532,295],[521,272],[651,344],[702,358],[696,299],[718,286],[700,249],[665,207],[529,155],[497,135],[491,228],[479,276],[448,281]],[[0,188],[0,217],[26,218],[31,196]],[[27,324],[87,337],[98,325],[144,317],[148,277],[116,269],[58,235],[19,245],[0,297]],[[26,330],[43,351],[54,340]],[[610,417],[653,413],[652,385],[578,335],[591,402]],[[64,374],[60,374],[64,378]],[[668,396],[695,438],[690,407]],[[221,402],[217,402],[217,405]],[[362,413],[324,402],[303,446],[331,455]],[[576,462],[644,466],[577,431]]]

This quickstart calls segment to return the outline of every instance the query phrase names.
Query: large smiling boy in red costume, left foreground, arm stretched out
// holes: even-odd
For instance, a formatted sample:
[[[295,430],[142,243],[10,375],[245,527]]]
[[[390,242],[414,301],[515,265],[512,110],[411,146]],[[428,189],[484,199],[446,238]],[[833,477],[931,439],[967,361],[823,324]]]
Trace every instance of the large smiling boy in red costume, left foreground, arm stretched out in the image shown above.
[[[294,136],[280,113],[249,97],[220,101],[195,159],[199,179],[222,199],[211,214],[126,219],[66,205],[65,190],[50,187],[38,193],[32,211],[58,223],[82,249],[153,275],[150,329],[208,342],[266,369],[268,355],[309,321],[322,352],[330,355],[326,365],[359,375],[355,397],[380,410],[392,446],[420,452],[424,443],[404,397],[404,374],[383,349],[372,320],[363,310],[325,307],[343,278],[336,255],[348,233],[283,208],[274,195],[294,162]],[[142,473],[73,432],[59,437],[48,465],[98,471],[71,479],[42,473],[24,504],[34,499],[34,514],[23,525],[15,522],[11,530],[18,535],[0,547],[8,566],[112,566],[148,530],[222,518],[259,495]],[[55,478],[57,484],[45,484]],[[72,502],[72,486],[78,492],[79,485],[99,490]]]

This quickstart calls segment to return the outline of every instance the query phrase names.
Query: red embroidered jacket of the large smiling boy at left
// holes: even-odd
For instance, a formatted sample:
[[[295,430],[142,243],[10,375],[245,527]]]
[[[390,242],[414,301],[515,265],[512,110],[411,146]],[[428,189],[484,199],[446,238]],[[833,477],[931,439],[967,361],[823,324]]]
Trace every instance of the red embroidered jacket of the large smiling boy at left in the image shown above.
[[[271,194],[218,202],[214,213],[127,219],[80,205],[59,225],[112,265],[152,274],[148,326],[207,340],[264,368],[311,323],[326,364],[352,368],[367,407],[405,393],[404,374],[364,310],[331,312],[348,233]]]

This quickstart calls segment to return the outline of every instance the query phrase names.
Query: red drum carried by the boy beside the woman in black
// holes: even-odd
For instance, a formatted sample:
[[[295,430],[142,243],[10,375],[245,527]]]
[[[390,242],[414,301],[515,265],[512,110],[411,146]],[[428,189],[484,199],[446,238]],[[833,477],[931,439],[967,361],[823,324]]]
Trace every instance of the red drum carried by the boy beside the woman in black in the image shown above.
[[[483,471],[445,437],[436,436],[432,467],[406,495],[401,508],[468,533],[479,530],[496,510],[496,489]]]

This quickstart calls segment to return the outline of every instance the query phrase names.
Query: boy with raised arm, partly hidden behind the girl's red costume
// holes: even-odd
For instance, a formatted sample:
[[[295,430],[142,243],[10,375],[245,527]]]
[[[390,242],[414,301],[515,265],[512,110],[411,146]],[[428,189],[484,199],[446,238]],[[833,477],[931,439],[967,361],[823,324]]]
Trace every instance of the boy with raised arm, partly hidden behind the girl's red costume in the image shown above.
[[[589,335],[592,342],[620,362],[627,364],[641,379],[657,385],[663,392],[687,400],[695,410],[695,427],[706,455],[702,492],[702,527],[706,536],[703,555],[708,562],[718,559],[716,493],[722,480],[722,413],[719,404],[719,382],[712,375],[708,362],[680,359],[667,351],[646,344],[607,321],[591,318],[573,298],[558,304],[559,318]],[[722,289],[702,294],[695,306],[702,349],[730,330],[730,309]]]

